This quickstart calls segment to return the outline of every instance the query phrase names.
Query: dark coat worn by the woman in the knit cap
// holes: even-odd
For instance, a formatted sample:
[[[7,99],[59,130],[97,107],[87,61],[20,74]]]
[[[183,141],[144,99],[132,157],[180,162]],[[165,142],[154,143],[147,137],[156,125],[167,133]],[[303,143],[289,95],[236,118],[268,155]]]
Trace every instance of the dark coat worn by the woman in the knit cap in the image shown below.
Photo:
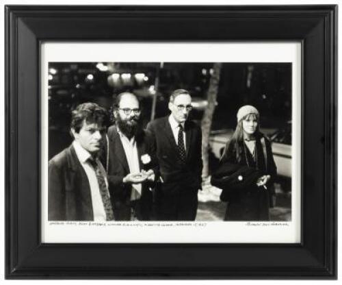
[[[256,140],[259,165],[252,161],[247,147],[242,147],[241,161],[237,161],[236,143],[231,141],[226,149],[220,168],[213,173],[211,184],[222,188],[220,199],[228,201],[225,220],[268,221],[269,207],[274,195],[273,181],[276,164],[269,140],[261,135]],[[271,175],[267,189],[257,186],[257,179]]]

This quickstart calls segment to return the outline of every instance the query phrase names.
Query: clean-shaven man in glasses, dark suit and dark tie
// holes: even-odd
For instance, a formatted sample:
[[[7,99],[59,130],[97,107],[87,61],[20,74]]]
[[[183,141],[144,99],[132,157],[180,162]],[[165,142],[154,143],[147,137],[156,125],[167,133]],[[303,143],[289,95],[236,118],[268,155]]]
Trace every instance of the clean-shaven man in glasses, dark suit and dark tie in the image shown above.
[[[157,218],[161,221],[194,221],[198,190],[202,184],[202,132],[189,121],[192,97],[184,89],[174,90],[170,116],[147,125],[153,136],[159,164],[160,188],[155,191]]]

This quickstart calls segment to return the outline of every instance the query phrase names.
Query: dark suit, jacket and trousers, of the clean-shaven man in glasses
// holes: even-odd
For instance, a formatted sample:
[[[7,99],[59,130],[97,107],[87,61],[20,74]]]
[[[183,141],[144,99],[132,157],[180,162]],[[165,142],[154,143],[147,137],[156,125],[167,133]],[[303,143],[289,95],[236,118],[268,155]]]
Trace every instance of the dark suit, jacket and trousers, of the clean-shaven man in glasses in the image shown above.
[[[185,122],[185,163],[181,161],[168,116],[151,121],[147,131],[153,136],[161,176],[155,192],[159,220],[193,221],[202,187],[202,132],[196,123]]]

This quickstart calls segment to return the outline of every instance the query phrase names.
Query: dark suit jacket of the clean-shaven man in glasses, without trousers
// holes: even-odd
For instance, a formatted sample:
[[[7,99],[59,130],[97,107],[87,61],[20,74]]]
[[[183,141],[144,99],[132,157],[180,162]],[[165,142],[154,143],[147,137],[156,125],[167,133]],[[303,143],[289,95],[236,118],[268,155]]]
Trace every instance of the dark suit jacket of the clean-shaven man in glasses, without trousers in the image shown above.
[[[176,140],[168,116],[151,121],[147,132],[153,137],[159,174],[164,184],[177,184],[201,188],[202,184],[202,132],[193,121],[185,121],[185,163],[181,162]]]

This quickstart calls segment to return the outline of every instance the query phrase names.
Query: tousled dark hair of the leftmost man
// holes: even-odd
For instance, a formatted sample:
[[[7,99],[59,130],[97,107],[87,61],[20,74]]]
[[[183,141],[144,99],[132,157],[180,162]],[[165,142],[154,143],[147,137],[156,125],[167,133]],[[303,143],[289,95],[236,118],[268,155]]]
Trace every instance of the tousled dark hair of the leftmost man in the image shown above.
[[[83,126],[83,121],[86,123],[101,123],[106,125],[107,112],[104,108],[98,106],[96,103],[83,103],[77,106],[71,113],[70,127],[75,129],[75,132],[79,132]]]

